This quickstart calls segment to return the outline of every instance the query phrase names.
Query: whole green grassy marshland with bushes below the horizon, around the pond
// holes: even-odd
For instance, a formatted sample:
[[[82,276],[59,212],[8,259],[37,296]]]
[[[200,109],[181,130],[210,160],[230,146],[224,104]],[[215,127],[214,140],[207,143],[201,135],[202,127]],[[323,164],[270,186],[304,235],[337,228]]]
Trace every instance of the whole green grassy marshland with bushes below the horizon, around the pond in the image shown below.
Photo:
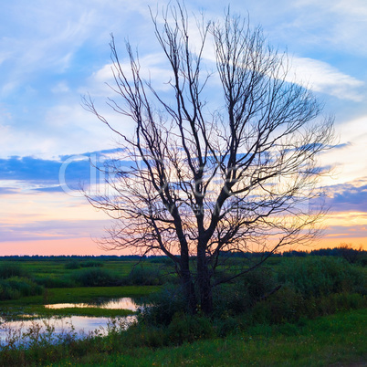
[[[234,259],[233,267],[241,261]],[[115,326],[106,337],[79,341],[67,335],[55,345],[34,335],[26,347],[0,349],[0,366],[324,366],[367,362],[367,269],[360,264],[331,257],[270,259],[266,268],[221,288],[211,319],[200,313],[181,313],[174,293],[170,293],[177,282],[172,275],[164,275],[171,271],[164,259],[148,260],[136,273],[131,271],[134,264],[130,260],[0,260],[0,291],[16,289],[9,293],[13,299],[0,301],[0,312],[9,320],[23,315],[116,318],[131,311],[46,309],[44,305],[157,296],[153,298],[157,307],[147,313],[151,316],[146,318],[143,313],[129,330],[120,330],[118,321],[111,319]],[[80,286],[90,281],[98,284],[96,278],[110,286]],[[120,285],[113,286],[116,282]],[[57,284],[64,287],[55,287]],[[67,287],[69,284],[73,286]],[[262,299],[278,284],[282,286],[278,292]],[[160,289],[164,289],[161,295]],[[178,309],[167,313],[172,305]],[[154,312],[159,320],[164,313],[163,324]]]

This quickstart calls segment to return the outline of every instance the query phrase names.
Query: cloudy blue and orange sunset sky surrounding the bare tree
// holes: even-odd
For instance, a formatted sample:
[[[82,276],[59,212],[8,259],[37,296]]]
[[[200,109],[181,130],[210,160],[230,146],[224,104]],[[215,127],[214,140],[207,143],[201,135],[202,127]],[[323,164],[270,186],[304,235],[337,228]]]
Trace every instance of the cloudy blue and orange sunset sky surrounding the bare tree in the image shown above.
[[[163,56],[149,5],[134,0],[0,1],[0,256],[107,255],[96,240],[110,225],[79,193],[117,145],[111,131],[83,109],[89,93],[100,112],[131,131],[131,121],[105,104],[111,90],[110,34],[122,62],[125,40],[160,81]],[[186,1],[189,14],[224,14],[223,1]],[[323,182],[330,213],[312,248],[349,243],[367,249],[367,2],[236,0],[268,41],[287,49],[292,71],[335,117],[334,167]],[[161,78],[161,79],[160,79]],[[161,80],[164,81],[164,80]],[[121,253],[113,253],[122,255]]]

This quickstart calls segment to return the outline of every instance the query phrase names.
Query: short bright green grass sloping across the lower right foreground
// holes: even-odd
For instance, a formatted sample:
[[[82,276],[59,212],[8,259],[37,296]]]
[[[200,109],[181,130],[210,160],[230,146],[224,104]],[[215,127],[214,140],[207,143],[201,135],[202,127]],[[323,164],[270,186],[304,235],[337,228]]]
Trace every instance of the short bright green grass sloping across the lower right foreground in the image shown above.
[[[58,366],[263,365],[326,366],[367,362],[367,309],[306,320],[302,326],[258,325],[226,339],[179,347],[93,353],[68,357]],[[362,364],[361,364],[362,365]]]

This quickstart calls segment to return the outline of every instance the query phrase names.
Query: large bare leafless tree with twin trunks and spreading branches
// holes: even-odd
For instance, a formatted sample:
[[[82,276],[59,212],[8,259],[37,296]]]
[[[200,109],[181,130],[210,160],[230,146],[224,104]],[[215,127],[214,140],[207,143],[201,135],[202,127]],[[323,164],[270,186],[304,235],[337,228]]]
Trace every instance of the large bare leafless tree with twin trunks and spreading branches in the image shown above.
[[[189,37],[184,5],[152,15],[170,96],[142,78],[129,43],[124,68],[111,37],[117,99],[108,103],[135,132],[126,135],[84,100],[121,140],[106,179],[113,194],[89,202],[116,219],[103,246],[170,257],[188,308],[210,313],[215,286],[317,235],[324,209],[309,203],[322,195],[317,156],[330,148],[333,123],[318,118],[309,89],[289,81],[287,55],[267,45],[260,27],[229,11],[223,22],[195,20]],[[261,254],[254,264],[215,278],[230,255],[250,251]]]

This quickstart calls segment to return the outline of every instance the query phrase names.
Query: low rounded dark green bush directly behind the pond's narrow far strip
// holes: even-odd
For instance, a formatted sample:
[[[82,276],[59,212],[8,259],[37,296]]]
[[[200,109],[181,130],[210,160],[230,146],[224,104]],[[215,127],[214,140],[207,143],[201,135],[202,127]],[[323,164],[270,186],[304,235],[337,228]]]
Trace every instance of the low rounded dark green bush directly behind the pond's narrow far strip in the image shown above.
[[[121,279],[117,274],[100,267],[82,269],[72,274],[70,278],[82,287],[110,287],[121,285]]]

